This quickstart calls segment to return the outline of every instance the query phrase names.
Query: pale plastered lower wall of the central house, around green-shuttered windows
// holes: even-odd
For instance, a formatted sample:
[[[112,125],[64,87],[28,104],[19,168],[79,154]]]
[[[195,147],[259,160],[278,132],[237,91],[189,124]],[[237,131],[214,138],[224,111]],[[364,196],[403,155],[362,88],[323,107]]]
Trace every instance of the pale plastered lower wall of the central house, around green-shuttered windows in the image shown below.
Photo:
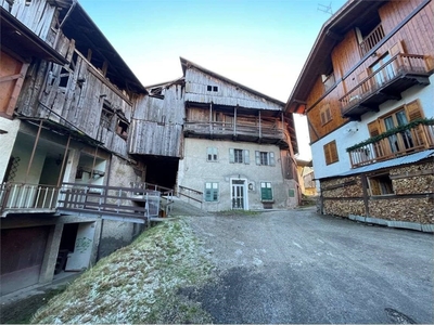
[[[206,160],[207,147],[217,147],[218,160],[216,162]],[[248,150],[250,164],[229,162],[229,148]],[[255,151],[273,152],[276,166],[257,166]],[[205,210],[231,209],[231,179],[244,179],[246,184],[252,183],[253,190],[247,190],[248,209],[263,209],[260,182],[271,182],[272,184],[275,199],[272,208],[296,206],[296,198],[289,198],[289,190],[290,187],[294,188],[295,182],[283,180],[278,146],[191,138],[184,140],[184,158],[179,161],[178,184],[201,192],[205,190],[205,182],[217,182],[219,184],[218,202],[204,202],[203,208]]]

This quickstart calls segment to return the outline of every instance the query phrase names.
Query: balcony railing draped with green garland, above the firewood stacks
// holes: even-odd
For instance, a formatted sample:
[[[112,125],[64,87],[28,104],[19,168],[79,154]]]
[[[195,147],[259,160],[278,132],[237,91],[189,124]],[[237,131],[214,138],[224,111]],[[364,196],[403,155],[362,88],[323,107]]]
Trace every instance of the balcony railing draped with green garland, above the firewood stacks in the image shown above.
[[[411,122],[347,148],[352,167],[359,167],[434,147],[434,121]]]

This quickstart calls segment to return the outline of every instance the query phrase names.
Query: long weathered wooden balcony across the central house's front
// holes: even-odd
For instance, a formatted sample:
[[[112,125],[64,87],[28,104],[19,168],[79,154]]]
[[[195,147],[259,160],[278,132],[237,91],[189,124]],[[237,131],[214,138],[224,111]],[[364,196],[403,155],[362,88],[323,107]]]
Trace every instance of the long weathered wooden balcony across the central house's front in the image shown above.
[[[265,127],[260,125],[243,125],[228,122],[187,121],[183,125],[186,136],[210,139],[237,139],[239,141],[284,144],[288,146],[289,135],[280,126]]]

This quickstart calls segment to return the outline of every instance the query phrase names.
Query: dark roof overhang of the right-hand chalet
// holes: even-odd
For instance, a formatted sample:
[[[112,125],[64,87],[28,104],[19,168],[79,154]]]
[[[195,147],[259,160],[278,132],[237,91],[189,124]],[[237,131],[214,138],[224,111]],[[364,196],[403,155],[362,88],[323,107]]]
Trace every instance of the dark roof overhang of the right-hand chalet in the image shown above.
[[[286,102],[285,110],[301,114],[306,112],[306,100],[317,81],[317,77],[329,75],[333,70],[331,52],[334,47],[354,27],[371,24],[375,16],[372,13],[376,12],[384,2],[387,1],[348,0],[322,25]]]

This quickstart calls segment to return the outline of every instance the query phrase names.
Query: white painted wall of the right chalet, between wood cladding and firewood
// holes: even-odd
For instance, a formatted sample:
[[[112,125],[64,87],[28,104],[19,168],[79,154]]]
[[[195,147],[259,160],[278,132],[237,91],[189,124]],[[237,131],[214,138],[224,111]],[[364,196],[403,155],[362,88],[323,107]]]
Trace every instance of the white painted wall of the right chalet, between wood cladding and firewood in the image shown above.
[[[405,104],[419,100],[425,117],[434,117],[434,75],[430,77],[431,84],[414,86],[401,93],[400,101],[387,101],[380,105],[380,112],[367,113],[361,116],[361,121],[352,121],[333,131],[321,140],[311,144],[315,177],[322,179],[345,172],[352,168],[349,155],[346,148],[370,138],[367,125]],[[357,130],[348,132],[348,129]],[[339,161],[326,165],[323,146],[335,140],[339,153]]]

